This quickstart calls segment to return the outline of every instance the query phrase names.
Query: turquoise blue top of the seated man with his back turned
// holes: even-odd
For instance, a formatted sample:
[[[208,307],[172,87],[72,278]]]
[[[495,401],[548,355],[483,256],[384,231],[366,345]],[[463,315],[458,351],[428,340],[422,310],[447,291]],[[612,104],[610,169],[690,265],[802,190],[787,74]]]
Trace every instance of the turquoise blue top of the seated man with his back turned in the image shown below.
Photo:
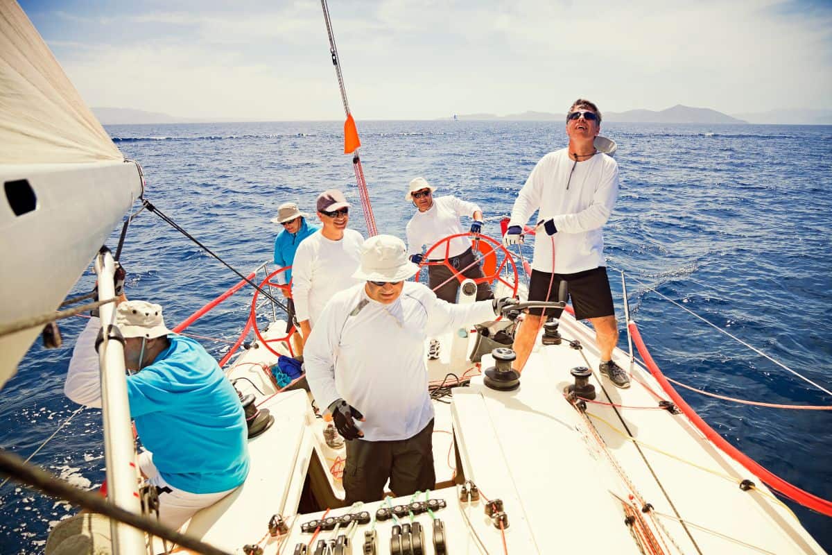
[[[195,340],[171,334],[153,364],[127,377],[130,414],[162,478],[190,493],[236,488],[249,473],[240,399]]]

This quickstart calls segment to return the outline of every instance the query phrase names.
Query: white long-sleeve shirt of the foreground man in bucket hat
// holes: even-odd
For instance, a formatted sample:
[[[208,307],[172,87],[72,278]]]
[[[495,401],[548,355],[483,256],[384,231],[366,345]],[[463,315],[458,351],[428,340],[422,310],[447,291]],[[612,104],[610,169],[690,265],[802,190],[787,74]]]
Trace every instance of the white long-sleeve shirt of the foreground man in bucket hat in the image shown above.
[[[493,319],[490,300],[451,305],[413,281],[389,305],[371,300],[364,285],[341,291],[305,345],[314,399],[320,409],[339,398],[359,409],[368,441],[409,439],[433,418],[425,339]]]

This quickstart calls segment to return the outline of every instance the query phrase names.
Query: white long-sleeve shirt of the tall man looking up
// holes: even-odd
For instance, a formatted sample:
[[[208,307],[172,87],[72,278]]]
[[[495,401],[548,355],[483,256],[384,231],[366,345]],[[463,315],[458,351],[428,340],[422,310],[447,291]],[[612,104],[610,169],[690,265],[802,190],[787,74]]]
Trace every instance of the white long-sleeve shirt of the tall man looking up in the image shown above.
[[[572,166],[575,170],[572,171]],[[572,179],[569,174],[572,172]],[[568,189],[567,189],[568,183]],[[554,273],[573,274],[606,264],[602,227],[618,197],[618,165],[606,154],[587,161],[569,158],[566,148],[549,152],[537,162],[514,201],[508,225],[525,225],[538,209],[536,221],[554,220]],[[552,238],[537,229],[532,269],[552,272]]]

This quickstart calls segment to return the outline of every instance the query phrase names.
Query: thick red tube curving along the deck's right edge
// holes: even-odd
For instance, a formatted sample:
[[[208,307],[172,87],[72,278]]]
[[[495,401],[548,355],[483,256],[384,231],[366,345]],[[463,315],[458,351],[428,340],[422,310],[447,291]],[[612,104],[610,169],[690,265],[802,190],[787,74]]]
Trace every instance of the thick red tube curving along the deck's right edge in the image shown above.
[[[647,369],[650,370],[650,373],[653,374],[653,377],[659,382],[661,389],[665,390],[665,393],[670,396],[673,403],[676,404],[676,407],[685,413],[687,418],[691,420],[691,424],[696,426],[702,434],[705,434],[705,437],[710,439],[711,443],[721,448],[724,453],[726,453],[730,458],[733,458],[737,463],[740,463],[750,473],[759,477],[760,480],[762,480],[769,488],[785,495],[785,497],[790,498],[792,501],[795,501],[795,503],[800,503],[804,507],[813,509],[821,514],[825,514],[827,517],[832,517],[832,501],[820,498],[812,493],[798,488],[791,483],[786,482],[783,478],[780,478],[775,473],[771,473],[769,470],[761,466],[760,463],[757,463],[754,459],[750,458],[745,453],[742,453],[738,448],[735,448],[733,445],[728,443],[720,434],[717,434],[705,420],[701,419],[699,414],[696,414],[694,409],[691,409],[691,406],[685,402],[685,399],[682,399],[681,395],[676,393],[676,389],[673,389],[673,386],[669,381],[667,381],[665,375],[661,373],[656,361],[653,360],[653,357],[647,350],[644,340],[641,339],[641,334],[636,327],[636,323],[630,322],[627,327],[630,330],[633,343],[636,344],[636,349],[638,349],[639,354],[641,354],[641,359],[644,360]]]

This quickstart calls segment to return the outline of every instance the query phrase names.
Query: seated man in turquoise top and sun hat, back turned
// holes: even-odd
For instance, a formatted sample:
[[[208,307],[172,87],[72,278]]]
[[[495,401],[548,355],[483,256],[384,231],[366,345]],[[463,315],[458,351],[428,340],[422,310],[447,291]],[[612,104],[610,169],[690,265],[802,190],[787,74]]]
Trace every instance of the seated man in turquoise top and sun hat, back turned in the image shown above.
[[[146,450],[139,468],[159,495],[159,519],[182,524],[245,481],[249,473],[245,413],[216,360],[194,339],[165,326],[161,306],[122,300],[116,325],[124,337],[127,399]],[[92,318],[78,337],[64,393],[102,406],[97,334]]]

